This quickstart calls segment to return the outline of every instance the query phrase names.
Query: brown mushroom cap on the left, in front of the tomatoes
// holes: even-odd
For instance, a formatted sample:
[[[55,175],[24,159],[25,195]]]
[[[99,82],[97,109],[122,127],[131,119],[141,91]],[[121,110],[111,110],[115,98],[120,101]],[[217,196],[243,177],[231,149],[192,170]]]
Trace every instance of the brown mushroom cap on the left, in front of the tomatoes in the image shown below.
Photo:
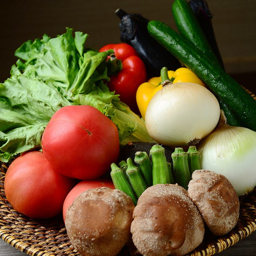
[[[65,226],[82,255],[114,256],[131,239],[134,204],[123,191],[107,187],[81,193],[67,209]]]

